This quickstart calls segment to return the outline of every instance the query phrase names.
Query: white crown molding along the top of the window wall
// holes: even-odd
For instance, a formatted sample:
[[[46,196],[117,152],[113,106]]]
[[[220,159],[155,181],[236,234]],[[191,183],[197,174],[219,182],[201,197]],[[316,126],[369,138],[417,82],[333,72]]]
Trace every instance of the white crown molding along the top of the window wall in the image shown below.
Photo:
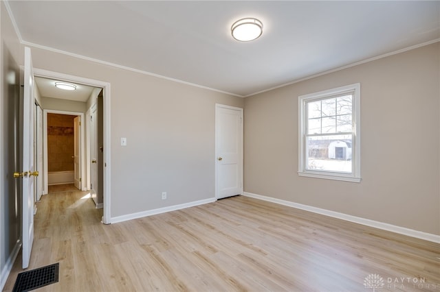
[[[259,95],[260,93],[267,93],[267,91],[270,91],[270,90],[274,90],[274,89],[277,89],[277,88],[289,86],[289,85],[292,85],[292,84],[303,82],[305,80],[314,79],[316,77],[320,77],[322,75],[327,75],[327,74],[330,74],[330,73],[338,72],[338,71],[341,71],[341,70],[344,70],[344,69],[349,69],[351,67],[358,66],[360,64],[365,64],[365,63],[373,62],[375,60],[379,60],[379,59],[386,58],[386,57],[389,57],[389,56],[397,55],[398,53],[404,53],[404,52],[410,51],[412,49],[417,49],[419,47],[425,47],[427,45],[432,45],[432,44],[434,44],[436,42],[440,42],[440,38],[436,38],[435,40],[430,40],[428,42],[422,42],[421,44],[413,45],[413,46],[410,46],[410,47],[406,47],[404,49],[399,49],[397,51],[391,51],[389,53],[384,53],[384,54],[382,54],[380,56],[376,56],[376,57],[373,57],[373,58],[365,59],[365,60],[362,60],[362,61],[359,61],[359,62],[348,64],[346,66],[341,66],[341,67],[338,67],[338,68],[335,68],[335,69],[331,69],[329,71],[324,71],[324,72],[321,72],[321,73],[316,73],[314,75],[310,75],[310,76],[303,77],[303,78],[300,78],[300,79],[297,79],[297,80],[294,80],[294,81],[291,81],[291,82],[287,82],[287,83],[284,83],[284,84],[281,84],[281,85],[278,85],[278,86],[267,88],[267,89],[258,91],[256,93],[251,93],[249,95],[244,95],[243,97],[252,97],[253,95]]]

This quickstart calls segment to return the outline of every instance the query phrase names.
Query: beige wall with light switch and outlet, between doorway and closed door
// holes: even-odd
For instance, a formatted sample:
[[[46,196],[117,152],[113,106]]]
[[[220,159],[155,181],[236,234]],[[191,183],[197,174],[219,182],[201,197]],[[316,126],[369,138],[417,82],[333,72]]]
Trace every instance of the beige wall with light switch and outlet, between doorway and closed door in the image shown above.
[[[111,83],[111,217],[214,197],[215,104],[243,99],[31,49],[35,68]]]

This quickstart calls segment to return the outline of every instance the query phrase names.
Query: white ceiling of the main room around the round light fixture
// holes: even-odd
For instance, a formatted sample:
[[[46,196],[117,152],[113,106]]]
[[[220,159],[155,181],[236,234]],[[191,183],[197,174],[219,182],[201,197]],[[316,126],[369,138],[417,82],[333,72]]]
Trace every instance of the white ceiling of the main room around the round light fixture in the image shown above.
[[[440,40],[440,1],[8,1],[25,44],[248,96]],[[238,42],[234,21],[263,35]]]

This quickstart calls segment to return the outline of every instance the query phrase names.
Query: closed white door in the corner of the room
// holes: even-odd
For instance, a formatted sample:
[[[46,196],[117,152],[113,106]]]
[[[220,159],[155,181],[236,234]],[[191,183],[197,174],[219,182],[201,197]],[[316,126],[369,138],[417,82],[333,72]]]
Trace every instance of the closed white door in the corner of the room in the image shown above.
[[[216,197],[243,193],[243,109],[216,105]]]

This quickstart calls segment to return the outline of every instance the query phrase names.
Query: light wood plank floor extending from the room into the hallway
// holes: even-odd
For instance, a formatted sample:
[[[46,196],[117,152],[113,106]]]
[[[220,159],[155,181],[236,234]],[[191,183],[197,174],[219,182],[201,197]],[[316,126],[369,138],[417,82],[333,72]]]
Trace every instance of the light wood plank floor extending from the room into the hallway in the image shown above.
[[[39,291],[440,291],[439,244],[249,197],[101,216],[86,192],[43,196],[30,269],[60,278]],[[19,256],[4,291],[21,271]]]

